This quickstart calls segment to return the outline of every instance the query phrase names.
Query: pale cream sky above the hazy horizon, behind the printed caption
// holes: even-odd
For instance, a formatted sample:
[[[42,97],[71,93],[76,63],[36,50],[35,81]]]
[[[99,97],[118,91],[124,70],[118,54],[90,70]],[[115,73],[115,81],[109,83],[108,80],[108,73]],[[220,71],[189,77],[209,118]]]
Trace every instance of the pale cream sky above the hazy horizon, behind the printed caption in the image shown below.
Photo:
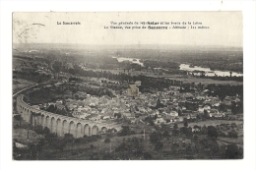
[[[57,25],[57,22],[81,25]],[[122,25],[123,29],[119,29],[109,28],[113,26],[110,22],[168,22],[169,25],[157,25],[167,29],[148,29],[149,25],[139,29],[125,29]],[[171,22],[186,25],[171,25]],[[209,28],[192,29],[188,22],[202,23],[201,26]],[[242,47],[242,23],[241,12],[13,13],[13,42]]]

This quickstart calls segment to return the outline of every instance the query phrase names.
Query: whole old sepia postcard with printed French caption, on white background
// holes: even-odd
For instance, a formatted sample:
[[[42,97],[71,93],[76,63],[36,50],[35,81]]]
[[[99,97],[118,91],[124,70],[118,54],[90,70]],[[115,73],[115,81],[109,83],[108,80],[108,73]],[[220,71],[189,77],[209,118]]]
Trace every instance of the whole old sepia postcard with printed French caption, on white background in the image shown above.
[[[243,13],[14,12],[13,160],[244,158]]]

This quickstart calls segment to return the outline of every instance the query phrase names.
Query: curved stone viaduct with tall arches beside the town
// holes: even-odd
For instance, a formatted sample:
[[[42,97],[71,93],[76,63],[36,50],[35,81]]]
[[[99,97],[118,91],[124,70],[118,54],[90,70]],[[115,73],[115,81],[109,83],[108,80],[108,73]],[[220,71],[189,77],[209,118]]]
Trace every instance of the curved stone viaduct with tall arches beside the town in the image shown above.
[[[38,110],[24,102],[23,97],[23,95],[17,97],[17,111],[21,113],[23,119],[31,123],[32,126],[41,125],[43,128],[49,128],[50,132],[56,133],[58,137],[72,134],[74,138],[83,138],[84,135],[105,134],[107,131],[114,133],[121,129],[120,126],[113,124],[98,123]]]

